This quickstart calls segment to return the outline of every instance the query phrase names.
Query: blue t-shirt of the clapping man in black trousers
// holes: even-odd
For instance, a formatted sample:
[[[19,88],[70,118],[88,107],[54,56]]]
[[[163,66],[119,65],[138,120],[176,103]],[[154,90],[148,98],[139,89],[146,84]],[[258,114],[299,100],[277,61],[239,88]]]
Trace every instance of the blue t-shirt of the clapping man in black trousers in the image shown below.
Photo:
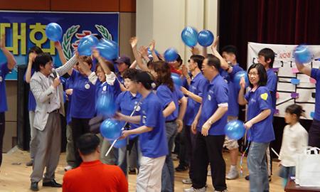
[[[210,82],[207,82],[203,88],[202,110],[197,127],[198,132],[201,132],[203,124],[215,113],[218,109],[218,105],[222,104],[228,105],[228,84],[223,80],[223,77],[216,75],[215,78]],[[223,117],[211,125],[209,134],[225,134],[227,119],[228,114],[223,114]]]

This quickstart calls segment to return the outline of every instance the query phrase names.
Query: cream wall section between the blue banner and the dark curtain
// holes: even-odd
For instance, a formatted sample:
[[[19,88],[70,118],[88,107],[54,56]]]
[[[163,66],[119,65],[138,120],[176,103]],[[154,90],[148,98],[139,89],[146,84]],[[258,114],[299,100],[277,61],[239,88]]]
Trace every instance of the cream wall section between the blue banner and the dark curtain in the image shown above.
[[[156,41],[156,50],[163,53],[174,47],[183,60],[191,53],[181,40],[181,31],[193,26],[198,31],[218,32],[218,0],[137,0],[139,46]],[[210,52],[210,51],[208,51]]]

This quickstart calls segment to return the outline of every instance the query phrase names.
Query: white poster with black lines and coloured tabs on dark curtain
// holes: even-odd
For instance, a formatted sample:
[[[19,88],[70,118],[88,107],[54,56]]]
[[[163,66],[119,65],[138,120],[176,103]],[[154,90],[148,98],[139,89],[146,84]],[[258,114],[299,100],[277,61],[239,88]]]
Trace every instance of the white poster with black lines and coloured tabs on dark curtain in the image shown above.
[[[285,109],[294,103],[302,105],[306,111],[306,119],[313,119],[316,80],[299,73],[294,63],[294,48],[297,45],[277,45],[252,43],[247,44],[247,68],[252,63],[257,63],[257,54],[262,48],[271,48],[275,53],[273,70],[278,76],[277,83],[277,107],[274,116],[284,117]],[[314,58],[319,58],[320,46],[308,46]],[[319,68],[320,61],[312,60],[305,64],[311,68]]]

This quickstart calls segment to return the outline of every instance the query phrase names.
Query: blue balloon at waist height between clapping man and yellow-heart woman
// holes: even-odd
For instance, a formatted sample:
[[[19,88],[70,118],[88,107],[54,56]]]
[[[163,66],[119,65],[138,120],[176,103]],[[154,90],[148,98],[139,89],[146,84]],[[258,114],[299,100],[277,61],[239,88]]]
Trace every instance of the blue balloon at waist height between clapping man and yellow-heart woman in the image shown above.
[[[245,135],[245,124],[240,120],[233,120],[225,125],[225,135],[230,139],[241,139]]]

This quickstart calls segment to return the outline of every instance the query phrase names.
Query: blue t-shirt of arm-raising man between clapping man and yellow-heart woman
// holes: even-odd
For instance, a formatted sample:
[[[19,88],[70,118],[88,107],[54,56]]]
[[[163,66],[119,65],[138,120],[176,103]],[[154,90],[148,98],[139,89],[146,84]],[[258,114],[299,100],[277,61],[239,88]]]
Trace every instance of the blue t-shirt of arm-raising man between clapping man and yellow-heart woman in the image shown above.
[[[228,73],[223,70],[220,75],[223,77],[224,80],[228,82],[229,88],[229,101],[228,101],[228,116],[238,117],[239,115],[239,104],[238,104],[238,94],[240,87],[235,85],[234,78],[235,74],[239,71],[243,70],[240,68],[238,63],[233,66],[233,72]]]

